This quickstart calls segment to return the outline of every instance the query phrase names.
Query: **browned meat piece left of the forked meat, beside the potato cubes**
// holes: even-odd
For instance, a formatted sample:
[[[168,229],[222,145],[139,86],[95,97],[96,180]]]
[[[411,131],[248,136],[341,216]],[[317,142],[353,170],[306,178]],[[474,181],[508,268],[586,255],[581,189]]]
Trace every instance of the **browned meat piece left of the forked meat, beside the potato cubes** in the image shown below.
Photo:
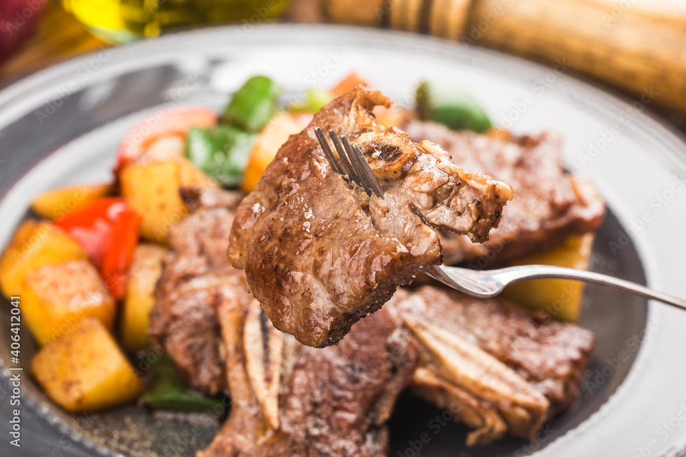
[[[216,305],[245,288],[243,271],[226,259],[237,193],[188,188],[182,196],[195,212],[169,232],[171,254],[156,290],[148,333],[174,359],[183,380],[198,391],[226,388]]]

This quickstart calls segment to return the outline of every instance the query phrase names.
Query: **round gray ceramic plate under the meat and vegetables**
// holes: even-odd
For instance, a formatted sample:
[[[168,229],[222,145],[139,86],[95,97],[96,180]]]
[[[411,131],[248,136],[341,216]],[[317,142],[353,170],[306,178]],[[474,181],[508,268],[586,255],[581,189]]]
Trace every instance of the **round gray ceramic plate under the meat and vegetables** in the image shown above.
[[[686,296],[686,145],[647,115],[650,95],[622,101],[566,76],[484,49],[414,35],[328,26],[221,27],[101,51],[0,92],[0,246],[43,190],[110,177],[117,144],[162,106],[219,109],[250,75],[294,91],[327,88],[357,70],[398,103],[419,79],[471,93],[514,132],[565,136],[565,166],[588,177],[611,213],[593,269]],[[650,88],[646,88],[650,94]],[[8,310],[0,306],[0,436],[8,440]],[[686,444],[686,313],[589,287],[580,325],[598,336],[579,401],[534,441],[464,447],[466,430],[405,395],[392,419],[392,456],[656,456]],[[22,364],[33,348],[24,334]],[[623,360],[620,360],[620,356]],[[22,447],[12,455],[192,455],[215,428],[158,421],[138,407],[73,416],[26,378]],[[8,449],[3,444],[2,449]],[[60,454],[60,452],[62,454]],[[5,455],[5,452],[0,452]],[[51,454],[53,453],[53,454]]]

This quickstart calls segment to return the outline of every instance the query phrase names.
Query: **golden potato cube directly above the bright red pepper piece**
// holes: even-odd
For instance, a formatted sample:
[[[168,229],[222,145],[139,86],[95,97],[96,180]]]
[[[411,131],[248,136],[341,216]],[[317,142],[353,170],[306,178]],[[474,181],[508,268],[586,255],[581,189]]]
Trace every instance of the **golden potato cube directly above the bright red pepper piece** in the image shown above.
[[[130,164],[119,173],[121,195],[129,207],[141,214],[141,234],[161,243],[188,210],[178,188],[180,164],[176,160]]]

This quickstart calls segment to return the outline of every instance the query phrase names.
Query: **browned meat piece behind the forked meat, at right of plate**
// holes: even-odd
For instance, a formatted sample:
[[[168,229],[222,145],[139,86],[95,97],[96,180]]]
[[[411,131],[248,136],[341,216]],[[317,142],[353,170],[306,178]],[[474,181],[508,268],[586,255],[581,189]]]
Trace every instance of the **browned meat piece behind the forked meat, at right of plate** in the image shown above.
[[[512,136],[503,131],[477,135],[412,119],[403,129],[410,138],[438,143],[465,169],[504,180],[514,189],[505,217],[486,243],[441,234],[445,264],[496,267],[552,248],[569,236],[592,232],[602,222],[605,206],[593,186],[564,171],[558,136]]]

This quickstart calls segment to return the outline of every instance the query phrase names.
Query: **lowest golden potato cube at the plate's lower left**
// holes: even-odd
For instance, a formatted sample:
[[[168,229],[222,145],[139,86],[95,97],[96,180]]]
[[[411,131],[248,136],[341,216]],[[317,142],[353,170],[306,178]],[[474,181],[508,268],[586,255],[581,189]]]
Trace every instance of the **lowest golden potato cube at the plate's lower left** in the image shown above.
[[[143,390],[110,332],[93,318],[82,319],[40,349],[31,360],[31,373],[47,395],[70,412],[132,402]]]

